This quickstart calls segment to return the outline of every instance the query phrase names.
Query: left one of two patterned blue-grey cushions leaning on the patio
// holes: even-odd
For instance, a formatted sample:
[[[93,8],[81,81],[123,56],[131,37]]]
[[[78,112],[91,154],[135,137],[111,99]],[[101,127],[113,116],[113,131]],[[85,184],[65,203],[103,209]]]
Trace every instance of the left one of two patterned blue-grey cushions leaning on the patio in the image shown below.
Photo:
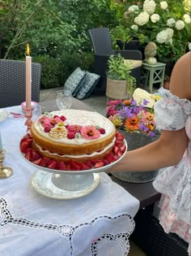
[[[64,89],[71,91],[72,96],[75,96],[79,91],[80,87],[83,85],[83,80],[85,79],[86,72],[83,72],[80,67],[77,67],[74,72],[68,77],[64,85]]]

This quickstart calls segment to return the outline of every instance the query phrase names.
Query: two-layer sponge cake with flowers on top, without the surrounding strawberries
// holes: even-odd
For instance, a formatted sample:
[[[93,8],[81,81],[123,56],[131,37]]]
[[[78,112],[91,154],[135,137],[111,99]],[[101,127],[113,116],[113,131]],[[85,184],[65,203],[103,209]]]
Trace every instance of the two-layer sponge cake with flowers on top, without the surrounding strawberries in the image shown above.
[[[66,110],[41,115],[32,124],[32,149],[57,161],[87,162],[112,151],[116,128],[97,112]]]

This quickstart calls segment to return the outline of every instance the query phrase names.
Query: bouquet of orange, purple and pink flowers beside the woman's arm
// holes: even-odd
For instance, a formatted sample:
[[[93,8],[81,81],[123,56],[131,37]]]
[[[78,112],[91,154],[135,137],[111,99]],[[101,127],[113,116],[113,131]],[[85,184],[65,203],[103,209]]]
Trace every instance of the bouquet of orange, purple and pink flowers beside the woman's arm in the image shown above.
[[[155,96],[158,100],[159,96]],[[134,98],[121,101],[120,99],[108,102],[106,112],[108,119],[116,128],[127,132],[141,132],[150,137],[155,137],[155,113],[153,107],[147,107],[148,101],[136,102]]]

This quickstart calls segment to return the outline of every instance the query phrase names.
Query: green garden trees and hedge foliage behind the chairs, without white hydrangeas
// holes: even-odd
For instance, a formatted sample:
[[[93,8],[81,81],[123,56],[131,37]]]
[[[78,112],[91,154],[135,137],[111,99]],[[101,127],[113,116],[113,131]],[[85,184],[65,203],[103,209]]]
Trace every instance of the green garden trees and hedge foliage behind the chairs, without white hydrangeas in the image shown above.
[[[131,5],[142,6],[143,2],[0,0],[0,59],[25,59],[25,48],[29,43],[32,61],[42,65],[41,89],[60,87],[76,67],[93,72],[94,57],[88,29],[108,27],[112,31],[121,24],[127,29],[128,24],[124,24],[123,20],[125,11]],[[161,0],[155,2],[159,6]],[[173,14],[173,17],[181,20],[186,8],[186,13],[190,15],[188,0],[166,2],[168,10],[171,10],[171,13],[167,10],[168,18]],[[188,50],[190,24],[187,27],[185,32],[177,33],[176,41],[168,47],[168,51],[166,46],[161,48],[157,56],[159,61],[166,58],[174,63],[179,55]],[[153,29],[156,31],[159,26],[155,25]],[[146,36],[146,31],[142,30],[142,36]],[[124,30],[125,33],[128,35],[129,30]],[[147,37],[142,41],[142,46],[151,40],[155,41],[155,38]],[[183,43],[184,47],[177,48]],[[113,47],[116,47],[115,42]]]

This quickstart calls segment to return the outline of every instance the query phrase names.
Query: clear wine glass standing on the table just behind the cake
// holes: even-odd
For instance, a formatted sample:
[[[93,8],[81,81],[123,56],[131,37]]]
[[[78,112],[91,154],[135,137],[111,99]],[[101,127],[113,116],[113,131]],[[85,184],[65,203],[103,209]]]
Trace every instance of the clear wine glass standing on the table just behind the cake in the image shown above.
[[[57,106],[62,110],[69,110],[72,104],[72,94],[70,90],[59,90],[57,91]]]

